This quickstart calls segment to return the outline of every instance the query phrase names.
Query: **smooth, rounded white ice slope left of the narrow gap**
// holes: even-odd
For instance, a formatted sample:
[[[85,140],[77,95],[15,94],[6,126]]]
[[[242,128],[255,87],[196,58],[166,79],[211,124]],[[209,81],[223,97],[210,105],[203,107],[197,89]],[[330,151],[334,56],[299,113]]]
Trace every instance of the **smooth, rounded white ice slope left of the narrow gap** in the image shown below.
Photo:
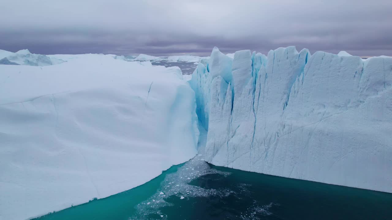
[[[0,219],[139,186],[196,154],[194,91],[178,69],[87,54],[0,65]]]

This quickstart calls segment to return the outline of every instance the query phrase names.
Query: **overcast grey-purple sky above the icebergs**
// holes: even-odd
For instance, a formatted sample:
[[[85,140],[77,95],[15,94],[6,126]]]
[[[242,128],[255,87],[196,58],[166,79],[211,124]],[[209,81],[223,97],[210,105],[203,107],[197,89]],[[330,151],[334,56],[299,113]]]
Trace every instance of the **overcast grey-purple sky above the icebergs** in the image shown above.
[[[392,56],[392,0],[14,0],[0,49],[39,54],[194,54],[295,45]]]

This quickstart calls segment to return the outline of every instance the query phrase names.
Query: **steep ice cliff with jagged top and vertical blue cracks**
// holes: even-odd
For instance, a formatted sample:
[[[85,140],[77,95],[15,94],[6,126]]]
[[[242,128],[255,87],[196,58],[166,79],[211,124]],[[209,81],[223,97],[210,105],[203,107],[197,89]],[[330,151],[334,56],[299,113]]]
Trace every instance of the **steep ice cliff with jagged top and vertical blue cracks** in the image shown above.
[[[190,84],[207,162],[392,192],[392,58],[214,48]]]

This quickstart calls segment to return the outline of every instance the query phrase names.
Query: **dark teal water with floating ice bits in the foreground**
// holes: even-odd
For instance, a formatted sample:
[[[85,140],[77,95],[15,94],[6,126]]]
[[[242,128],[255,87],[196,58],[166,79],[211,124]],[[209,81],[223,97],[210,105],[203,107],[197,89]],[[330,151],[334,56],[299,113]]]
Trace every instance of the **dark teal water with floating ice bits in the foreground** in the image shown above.
[[[200,158],[137,188],[38,219],[392,219],[389,193],[216,167]]]

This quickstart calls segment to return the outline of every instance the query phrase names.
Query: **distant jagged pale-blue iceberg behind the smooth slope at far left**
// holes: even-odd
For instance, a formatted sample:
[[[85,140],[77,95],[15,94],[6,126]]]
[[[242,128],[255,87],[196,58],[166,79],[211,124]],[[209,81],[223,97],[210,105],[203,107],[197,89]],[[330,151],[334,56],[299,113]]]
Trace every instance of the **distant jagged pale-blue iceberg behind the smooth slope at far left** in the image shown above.
[[[6,55],[6,56],[4,56]],[[4,56],[4,57],[2,57]],[[64,60],[50,58],[46,55],[32,54],[29,50],[19,50],[16,53],[5,50],[0,51],[0,64],[3,65],[28,65],[28,66],[49,66],[64,63]]]

